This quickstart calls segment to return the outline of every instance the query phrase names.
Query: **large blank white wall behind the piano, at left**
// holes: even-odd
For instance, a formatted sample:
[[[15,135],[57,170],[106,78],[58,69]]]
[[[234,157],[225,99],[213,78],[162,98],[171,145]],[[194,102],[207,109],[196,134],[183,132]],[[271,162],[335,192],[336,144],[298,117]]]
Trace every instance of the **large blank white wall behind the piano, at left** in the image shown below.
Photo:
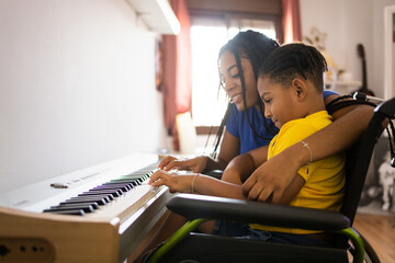
[[[0,193],[166,140],[155,33],[124,0],[0,1]]]

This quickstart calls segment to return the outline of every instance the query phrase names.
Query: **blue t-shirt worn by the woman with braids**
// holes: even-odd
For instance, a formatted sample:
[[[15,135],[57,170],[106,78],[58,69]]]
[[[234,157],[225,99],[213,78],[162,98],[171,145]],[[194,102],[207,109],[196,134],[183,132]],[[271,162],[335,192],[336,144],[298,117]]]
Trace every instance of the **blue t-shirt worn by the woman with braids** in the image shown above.
[[[330,95],[337,94],[334,91],[324,90],[324,100]],[[247,114],[255,130],[266,139],[255,135],[248,124],[246,112],[239,112],[235,104],[230,105],[229,115],[226,119],[226,130],[233,136],[240,139],[240,155],[257,149],[258,147],[269,145],[270,140],[279,132],[270,118],[266,118],[268,125],[275,134],[270,133],[263,124],[263,115],[256,106],[248,108]]]

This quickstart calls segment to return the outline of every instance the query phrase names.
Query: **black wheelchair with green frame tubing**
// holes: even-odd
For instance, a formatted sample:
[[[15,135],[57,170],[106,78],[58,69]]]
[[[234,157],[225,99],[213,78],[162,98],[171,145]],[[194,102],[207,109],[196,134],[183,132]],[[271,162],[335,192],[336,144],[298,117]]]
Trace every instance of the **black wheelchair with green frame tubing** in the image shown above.
[[[364,134],[346,152],[346,196],[340,211],[178,194],[168,201],[167,207],[189,221],[161,244],[148,262],[380,262],[368,240],[352,228],[352,222],[374,146],[388,123],[394,127],[394,118],[395,98],[375,107]],[[336,241],[334,247],[324,248],[193,232],[212,219],[319,230],[332,235]]]

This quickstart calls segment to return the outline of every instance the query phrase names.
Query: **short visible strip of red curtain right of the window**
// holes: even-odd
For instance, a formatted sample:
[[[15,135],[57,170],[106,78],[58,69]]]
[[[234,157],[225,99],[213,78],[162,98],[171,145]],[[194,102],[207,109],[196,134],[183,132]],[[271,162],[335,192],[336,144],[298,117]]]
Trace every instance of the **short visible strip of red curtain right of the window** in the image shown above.
[[[282,0],[284,43],[302,41],[298,0]]]

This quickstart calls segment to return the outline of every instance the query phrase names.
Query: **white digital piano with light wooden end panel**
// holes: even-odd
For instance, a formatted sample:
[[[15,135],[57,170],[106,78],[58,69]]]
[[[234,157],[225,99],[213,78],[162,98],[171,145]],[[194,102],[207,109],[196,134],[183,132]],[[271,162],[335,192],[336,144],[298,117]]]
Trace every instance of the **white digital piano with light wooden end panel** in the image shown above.
[[[147,184],[157,163],[138,153],[0,193],[0,261],[124,262],[167,210],[168,187]]]

